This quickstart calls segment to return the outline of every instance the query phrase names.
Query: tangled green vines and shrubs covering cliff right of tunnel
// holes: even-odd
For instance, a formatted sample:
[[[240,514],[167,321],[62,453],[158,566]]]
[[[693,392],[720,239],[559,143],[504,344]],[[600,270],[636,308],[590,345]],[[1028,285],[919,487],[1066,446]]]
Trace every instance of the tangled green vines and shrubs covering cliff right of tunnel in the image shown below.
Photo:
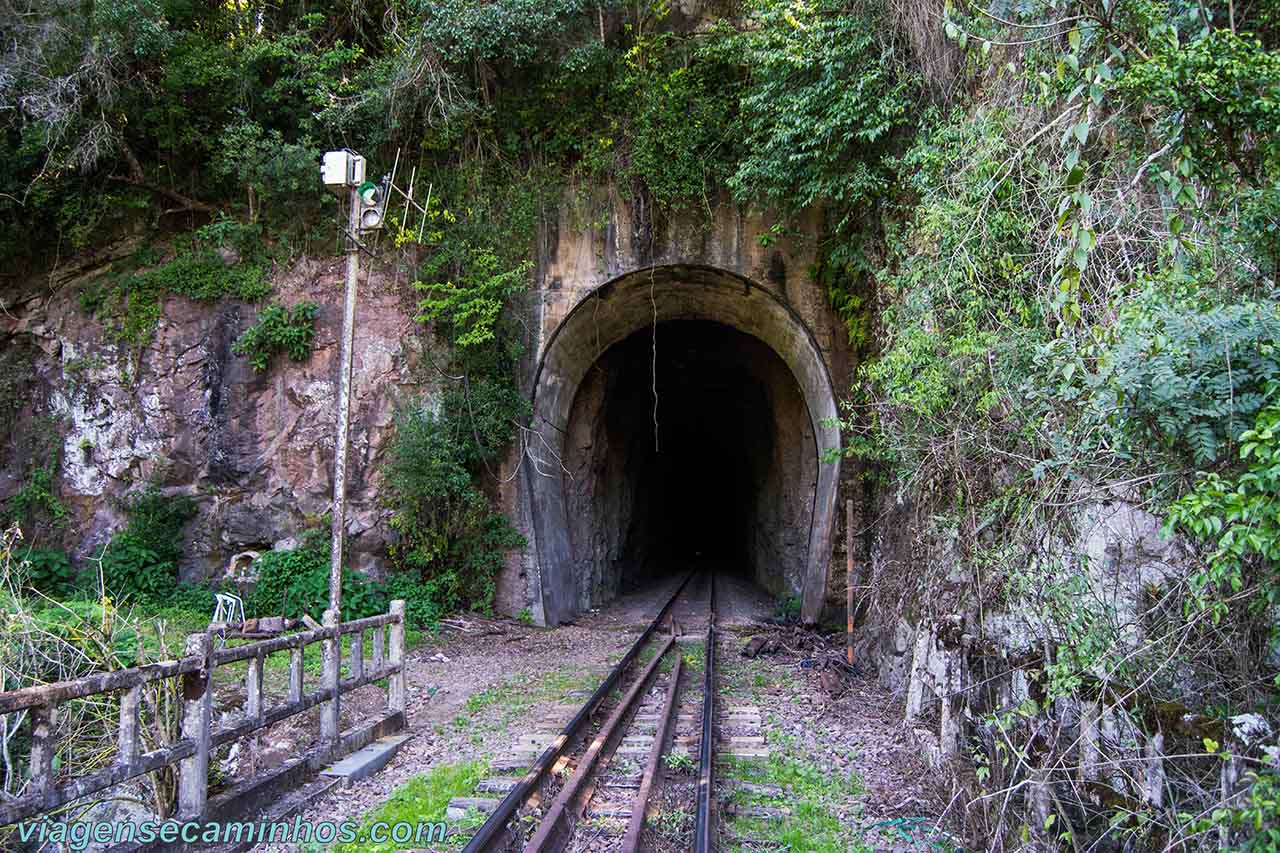
[[[1023,656],[1029,695],[987,710],[970,757],[1005,792],[1037,767],[1055,799],[1028,825],[984,806],[1002,794],[975,798],[969,824],[993,848],[1261,849],[1280,827],[1274,771],[1249,797],[1207,792],[1196,780],[1228,751],[1162,715],[1221,733],[1276,698],[1277,10],[938,8],[964,59],[950,104],[896,152],[884,220],[850,238],[883,250],[846,452],[909,502],[928,555],[873,607],[959,610],[979,635],[1007,630],[984,615],[1016,622],[995,642]],[[1084,544],[1108,514],[1204,547],[1116,598],[1108,573],[1137,570]],[[1121,558],[1143,557],[1102,556]],[[1047,734],[1060,702],[1181,753],[1162,804],[1100,807],[1078,781],[1080,730]]]

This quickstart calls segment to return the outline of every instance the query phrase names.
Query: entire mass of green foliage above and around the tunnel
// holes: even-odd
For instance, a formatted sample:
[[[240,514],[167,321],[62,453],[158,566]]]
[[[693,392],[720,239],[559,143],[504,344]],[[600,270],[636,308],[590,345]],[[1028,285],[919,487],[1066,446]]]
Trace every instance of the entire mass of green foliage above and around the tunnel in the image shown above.
[[[1280,825],[1274,771],[1217,802],[1221,751],[1183,742],[1162,806],[1100,806],[1059,711],[1110,702],[1125,738],[1172,740],[1170,708],[1221,731],[1276,699],[1280,8],[741,0],[692,19],[686,5],[9,0],[0,254],[163,236],[82,292],[138,347],[169,295],[268,296],[270,259],[321,222],[321,149],[399,155],[426,211],[393,211],[387,242],[412,247],[439,392],[397,420],[396,571],[348,588],[357,610],[393,594],[431,620],[488,607],[520,542],[494,508],[495,469],[525,437],[525,292],[566,202],[602,227],[612,187],[641,241],[671,216],[765,205],[781,215],[751,236],[763,245],[820,210],[812,272],[859,362],[844,452],[915,515],[927,555],[876,584],[872,610],[928,624],[968,608],[978,647],[1001,611],[1034,638],[1027,701],[970,708],[978,780],[1006,785],[973,800],[984,843],[1048,833],[1000,804],[1034,770],[1057,783],[1060,841],[1257,848]],[[312,320],[268,306],[237,351],[259,370],[300,357]],[[32,459],[6,514],[55,525],[56,455]],[[1079,544],[1100,506],[1185,537],[1188,567],[1140,579],[1140,615]],[[157,532],[172,544],[179,529],[178,515],[131,524],[104,574],[165,594],[175,557]],[[63,583],[47,555],[31,565]],[[255,607],[320,605],[319,548],[260,569]]]

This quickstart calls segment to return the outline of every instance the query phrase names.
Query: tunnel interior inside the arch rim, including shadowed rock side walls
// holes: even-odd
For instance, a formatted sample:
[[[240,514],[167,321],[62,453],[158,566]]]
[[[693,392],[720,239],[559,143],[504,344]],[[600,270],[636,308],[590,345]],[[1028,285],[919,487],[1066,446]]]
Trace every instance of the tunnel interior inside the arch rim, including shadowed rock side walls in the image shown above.
[[[808,537],[787,444],[812,429],[768,346],[705,320],[645,328],[596,361],[570,434],[571,530],[593,601],[690,567],[785,592],[787,543],[803,560]]]

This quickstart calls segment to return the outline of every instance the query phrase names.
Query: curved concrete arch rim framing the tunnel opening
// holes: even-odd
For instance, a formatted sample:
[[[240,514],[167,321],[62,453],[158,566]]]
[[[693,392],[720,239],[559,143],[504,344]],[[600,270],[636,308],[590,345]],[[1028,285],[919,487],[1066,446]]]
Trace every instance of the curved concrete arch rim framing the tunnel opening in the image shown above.
[[[823,464],[840,447],[838,411],[831,374],[813,333],[783,300],[736,273],[704,265],[660,265],[632,270],[596,287],[556,327],[538,361],[532,387],[532,428],[543,464],[526,465],[531,533],[536,560],[534,594],[543,619],[556,625],[585,602],[573,576],[568,524],[571,480],[561,460],[570,416],[588,371],[613,346],[657,324],[701,320],[755,338],[771,350],[799,388],[813,430],[817,480],[809,512],[801,616],[817,621],[827,587],[835,524],[838,461]],[[539,450],[541,452],[539,452]]]

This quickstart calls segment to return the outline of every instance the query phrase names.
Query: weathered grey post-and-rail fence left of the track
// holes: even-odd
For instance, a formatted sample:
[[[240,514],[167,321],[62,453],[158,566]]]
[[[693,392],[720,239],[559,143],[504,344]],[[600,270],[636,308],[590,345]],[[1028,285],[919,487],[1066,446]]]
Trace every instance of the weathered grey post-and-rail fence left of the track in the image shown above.
[[[365,634],[372,635],[372,657],[365,661]],[[342,678],[342,638],[351,637],[348,675]],[[389,635],[389,646],[385,639]],[[364,745],[372,736],[404,726],[404,602],[393,601],[390,611],[379,616],[338,622],[325,611],[321,628],[266,640],[214,651],[209,633],[187,638],[186,653],[177,661],[163,661],[115,672],[91,675],[0,693],[0,715],[31,713],[31,781],[20,797],[0,799],[0,826],[24,821],[72,800],[106,790],[113,785],[178,765],[178,817],[202,820],[210,816],[209,756],[218,747],[238,740],[280,720],[320,706],[320,744],[306,756],[306,765],[332,761]],[[321,685],[306,690],[303,649],[321,643]],[[289,683],[285,701],[268,707],[262,692],[262,672],[269,654],[289,653]],[[239,719],[215,726],[214,671],[247,661],[244,707]],[[138,711],[143,685],[160,679],[182,679],[182,735],[169,745],[141,752]],[[342,694],[387,679],[387,711],[358,731],[342,733],[339,708]],[[82,776],[60,779],[54,772],[58,751],[58,706],[102,693],[120,693],[119,734],[115,760],[108,767]]]

